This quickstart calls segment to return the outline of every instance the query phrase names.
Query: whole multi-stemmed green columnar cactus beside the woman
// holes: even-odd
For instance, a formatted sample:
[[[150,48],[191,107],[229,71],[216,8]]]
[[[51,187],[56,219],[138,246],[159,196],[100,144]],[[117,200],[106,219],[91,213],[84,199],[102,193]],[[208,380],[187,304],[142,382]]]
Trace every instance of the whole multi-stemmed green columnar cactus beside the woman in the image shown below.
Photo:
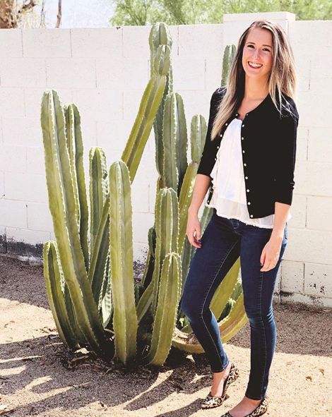
[[[54,90],[42,97],[49,209],[57,239],[45,243],[44,274],[59,337],[67,346],[90,347],[105,361],[116,355],[124,364],[140,357],[141,363],[162,365],[171,346],[203,352],[179,300],[196,250],[186,239],[186,222],[207,127],[201,115],[191,120],[188,162],[184,104],[173,92],[172,38],[165,23],[153,25],[149,42],[150,80],[121,160],[107,171],[102,149],[90,150],[90,216],[78,109],[62,106]],[[232,59],[228,49],[227,56],[224,73]],[[143,279],[135,285],[131,183],[152,126],[159,174],[155,223],[148,232]],[[202,232],[211,215],[204,207]],[[237,260],[211,301],[223,341],[247,321],[238,273]],[[138,350],[145,344],[147,355]]]

